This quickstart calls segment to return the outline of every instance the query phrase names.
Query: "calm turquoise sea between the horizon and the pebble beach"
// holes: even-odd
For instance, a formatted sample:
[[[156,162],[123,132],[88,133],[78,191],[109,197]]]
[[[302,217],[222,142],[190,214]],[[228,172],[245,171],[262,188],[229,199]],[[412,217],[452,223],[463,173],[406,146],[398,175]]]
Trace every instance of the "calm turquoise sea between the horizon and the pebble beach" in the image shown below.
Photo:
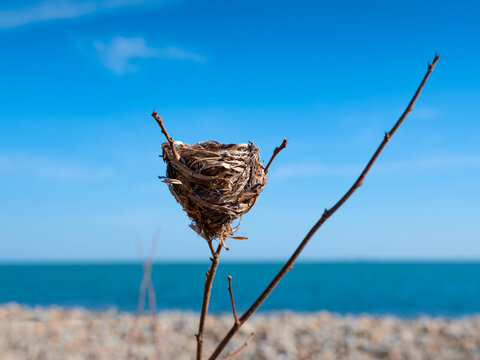
[[[211,310],[245,310],[281,264],[220,264]],[[199,311],[207,264],[155,264],[161,310]],[[0,265],[0,303],[134,311],[140,264]],[[480,263],[301,263],[260,310],[459,316],[480,313]]]

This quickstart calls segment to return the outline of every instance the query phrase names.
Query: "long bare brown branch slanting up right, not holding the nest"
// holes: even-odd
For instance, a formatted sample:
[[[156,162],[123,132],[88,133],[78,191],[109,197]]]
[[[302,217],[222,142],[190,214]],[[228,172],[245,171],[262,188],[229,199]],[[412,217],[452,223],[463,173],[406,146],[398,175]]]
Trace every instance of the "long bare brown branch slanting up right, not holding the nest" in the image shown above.
[[[273,289],[277,286],[277,284],[280,282],[280,280],[285,276],[285,274],[291,270],[293,267],[293,264],[295,263],[295,260],[297,260],[298,256],[300,253],[303,251],[307,243],[310,241],[312,236],[317,232],[317,230],[320,228],[320,226],[323,225],[327,219],[332,216],[347,200],[350,198],[350,196],[357,190],[362,184],[363,180],[365,179],[365,176],[368,174],[369,170],[377,160],[378,156],[382,152],[383,148],[387,145],[389,140],[392,138],[392,136],[395,134],[397,129],[400,127],[400,125],[403,123],[407,115],[410,113],[410,111],[413,110],[413,106],[415,105],[415,101],[417,100],[418,96],[420,95],[420,92],[422,91],[423,87],[425,86],[425,83],[427,82],[430,74],[432,73],[433,69],[435,68],[435,65],[437,64],[437,61],[439,59],[438,55],[435,55],[435,58],[433,59],[433,62],[431,64],[428,64],[428,70],[427,73],[425,74],[422,82],[417,88],[417,91],[413,95],[412,100],[408,104],[407,108],[403,112],[403,114],[400,116],[398,121],[395,123],[393,128],[385,133],[385,137],[383,138],[383,141],[380,143],[379,147],[373,154],[372,158],[370,161],[367,163],[365,166],[365,169],[362,171],[358,179],[355,181],[355,183],[352,185],[352,187],[343,195],[343,197],[338,200],[338,202],[330,209],[325,209],[323,212],[323,215],[320,217],[320,219],[316,222],[316,224],[310,229],[310,231],[307,233],[305,238],[302,240],[300,245],[297,247],[297,249],[293,252],[292,256],[288,259],[288,261],[283,265],[281,270],[278,272],[278,274],[273,278],[273,280],[270,282],[270,284],[267,286],[267,288],[263,291],[263,293],[258,297],[257,300],[250,306],[250,308],[240,317],[240,323],[234,324],[233,327],[230,329],[230,331],[225,335],[223,340],[220,342],[220,344],[217,346],[213,354],[210,356],[209,360],[214,360],[220,355],[222,350],[225,348],[225,346],[228,344],[228,342],[231,340],[233,335],[237,332],[237,330],[248,320],[250,316],[260,307],[260,305],[265,301],[265,299],[270,295],[270,293],[273,291]]]

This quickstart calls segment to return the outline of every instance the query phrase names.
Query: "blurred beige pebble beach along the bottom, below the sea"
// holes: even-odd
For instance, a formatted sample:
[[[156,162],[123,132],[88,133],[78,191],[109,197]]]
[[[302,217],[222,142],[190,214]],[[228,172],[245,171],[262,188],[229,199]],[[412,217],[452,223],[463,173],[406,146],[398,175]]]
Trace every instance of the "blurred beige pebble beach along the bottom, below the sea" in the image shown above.
[[[126,359],[134,316],[117,311],[0,306],[0,359]],[[210,316],[205,350],[230,328],[231,314]],[[157,316],[161,359],[193,359],[198,314]],[[138,319],[133,359],[155,359],[151,317]],[[480,316],[454,319],[339,316],[328,312],[254,315],[222,354],[255,337],[235,359],[480,359]],[[205,354],[207,355],[207,354]]]

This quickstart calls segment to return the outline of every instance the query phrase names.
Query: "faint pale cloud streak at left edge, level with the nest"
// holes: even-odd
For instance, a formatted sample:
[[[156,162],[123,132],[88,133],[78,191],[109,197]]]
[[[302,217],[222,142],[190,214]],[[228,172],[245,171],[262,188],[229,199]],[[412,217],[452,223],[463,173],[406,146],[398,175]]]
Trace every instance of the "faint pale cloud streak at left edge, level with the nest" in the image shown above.
[[[97,181],[108,178],[112,170],[75,161],[35,154],[0,154],[0,175],[28,176],[46,180]]]

